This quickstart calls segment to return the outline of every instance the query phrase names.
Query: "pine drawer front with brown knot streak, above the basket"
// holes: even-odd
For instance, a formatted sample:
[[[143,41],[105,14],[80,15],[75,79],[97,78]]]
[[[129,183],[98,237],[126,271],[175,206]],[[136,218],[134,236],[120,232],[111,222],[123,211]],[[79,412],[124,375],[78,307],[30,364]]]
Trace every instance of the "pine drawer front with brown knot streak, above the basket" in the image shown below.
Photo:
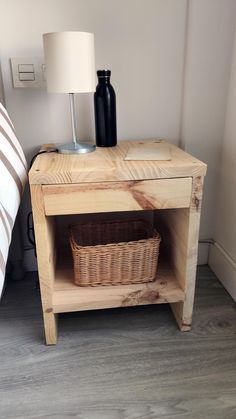
[[[188,208],[192,178],[42,186],[46,215]]]

